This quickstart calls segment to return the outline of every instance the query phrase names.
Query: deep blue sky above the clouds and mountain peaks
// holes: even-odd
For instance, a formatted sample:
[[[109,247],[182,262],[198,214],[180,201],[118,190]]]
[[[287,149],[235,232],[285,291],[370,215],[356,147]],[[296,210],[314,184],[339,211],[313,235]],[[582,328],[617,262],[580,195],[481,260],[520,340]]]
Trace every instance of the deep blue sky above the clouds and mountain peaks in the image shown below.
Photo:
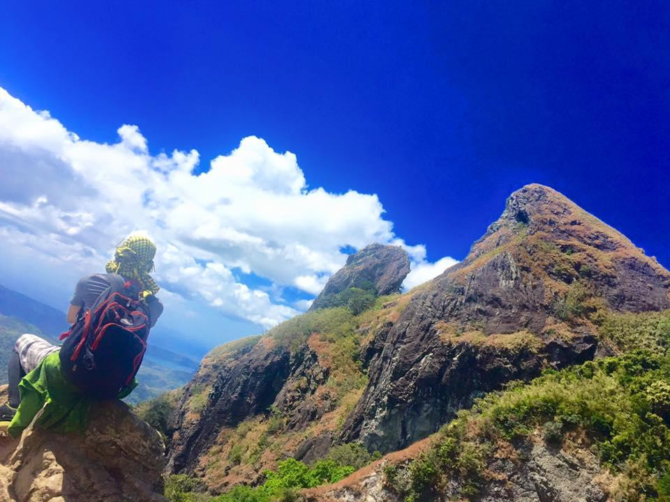
[[[509,192],[530,182],[565,193],[669,266],[669,38],[664,2],[9,1],[0,86],[89,142],[117,144],[119,127],[135,125],[143,155],[195,149],[201,172],[253,136],[277,162],[295,154],[304,190],[322,187],[327,201],[355,190],[371,213],[376,195],[385,213],[347,220],[342,242],[321,250],[321,270],[296,266],[282,278],[260,259],[223,260],[231,284],[299,310],[342,259],[338,243],[383,236],[425,245],[415,256],[425,266],[462,259]],[[141,140],[125,134],[137,151]],[[299,178],[286,169],[282,183]],[[254,237],[274,242],[268,235]],[[294,237],[286,252],[308,242]],[[77,242],[93,258],[109,248]],[[198,264],[216,261],[198,249]],[[22,258],[11,259],[20,270]],[[296,277],[312,277],[312,292]],[[53,303],[53,289],[29,286]],[[191,305],[203,330],[218,322],[202,307],[211,301]],[[225,323],[237,324],[218,328],[258,330],[228,310]]]

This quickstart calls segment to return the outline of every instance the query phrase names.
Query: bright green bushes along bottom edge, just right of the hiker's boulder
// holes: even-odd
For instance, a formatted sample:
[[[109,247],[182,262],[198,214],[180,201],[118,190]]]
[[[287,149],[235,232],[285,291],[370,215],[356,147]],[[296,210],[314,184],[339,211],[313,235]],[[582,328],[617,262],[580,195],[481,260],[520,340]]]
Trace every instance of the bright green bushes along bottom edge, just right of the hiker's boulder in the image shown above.
[[[179,474],[167,478],[165,496],[170,502],[290,502],[297,500],[298,489],[338,482],[355,470],[334,459],[309,467],[289,458],[279,462],[276,471],[266,471],[265,483],[259,487],[237,486],[226,494],[207,496],[198,480]]]

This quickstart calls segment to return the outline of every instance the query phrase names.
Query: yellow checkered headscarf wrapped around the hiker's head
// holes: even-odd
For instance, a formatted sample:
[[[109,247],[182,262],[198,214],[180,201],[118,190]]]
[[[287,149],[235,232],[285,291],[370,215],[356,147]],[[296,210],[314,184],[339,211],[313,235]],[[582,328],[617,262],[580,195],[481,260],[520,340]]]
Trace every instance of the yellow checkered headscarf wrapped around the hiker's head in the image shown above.
[[[119,245],[114,259],[107,262],[107,273],[117,273],[126,280],[135,280],[140,283],[141,296],[156,294],[158,284],[151,278],[149,272],[154,269],[156,244],[144,236],[130,236]]]

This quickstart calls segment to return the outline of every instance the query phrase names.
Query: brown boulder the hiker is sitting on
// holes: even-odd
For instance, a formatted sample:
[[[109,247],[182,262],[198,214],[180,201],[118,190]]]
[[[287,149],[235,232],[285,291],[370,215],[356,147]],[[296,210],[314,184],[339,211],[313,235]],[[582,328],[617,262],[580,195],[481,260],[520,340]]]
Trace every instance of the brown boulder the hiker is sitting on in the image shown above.
[[[165,447],[126,404],[93,406],[82,434],[29,427],[0,442],[0,500],[160,502]]]

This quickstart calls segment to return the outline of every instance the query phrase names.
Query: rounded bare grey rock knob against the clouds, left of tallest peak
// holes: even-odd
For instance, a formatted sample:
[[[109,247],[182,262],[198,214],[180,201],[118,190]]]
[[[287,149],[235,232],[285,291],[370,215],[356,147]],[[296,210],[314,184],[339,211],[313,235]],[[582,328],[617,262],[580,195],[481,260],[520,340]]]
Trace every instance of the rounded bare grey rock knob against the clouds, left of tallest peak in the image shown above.
[[[351,254],[343,268],[326,283],[310,310],[327,306],[332,296],[350,287],[370,289],[378,295],[397,293],[410,273],[410,259],[400,246],[371,244]]]

